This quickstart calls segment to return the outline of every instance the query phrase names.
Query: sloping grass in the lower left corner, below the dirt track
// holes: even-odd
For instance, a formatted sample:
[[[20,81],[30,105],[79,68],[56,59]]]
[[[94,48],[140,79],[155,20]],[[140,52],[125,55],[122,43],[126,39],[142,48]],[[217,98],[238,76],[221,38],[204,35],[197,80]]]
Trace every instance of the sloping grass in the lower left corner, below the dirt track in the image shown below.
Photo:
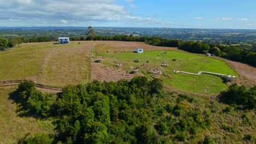
[[[51,121],[20,116],[22,106],[10,99],[16,95],[16,88],[0,87],[0,143],[18,143],[27,133],[53,133]]]

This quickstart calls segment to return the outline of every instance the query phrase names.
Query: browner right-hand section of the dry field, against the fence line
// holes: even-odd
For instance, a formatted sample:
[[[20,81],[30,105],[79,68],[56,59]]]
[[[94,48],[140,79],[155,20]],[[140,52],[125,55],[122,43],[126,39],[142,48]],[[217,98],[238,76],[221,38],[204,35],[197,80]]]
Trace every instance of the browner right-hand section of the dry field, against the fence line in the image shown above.
[[[89,46],[90,44],[82,43],[46,51],[38,83],[65,86],[88,82]]]

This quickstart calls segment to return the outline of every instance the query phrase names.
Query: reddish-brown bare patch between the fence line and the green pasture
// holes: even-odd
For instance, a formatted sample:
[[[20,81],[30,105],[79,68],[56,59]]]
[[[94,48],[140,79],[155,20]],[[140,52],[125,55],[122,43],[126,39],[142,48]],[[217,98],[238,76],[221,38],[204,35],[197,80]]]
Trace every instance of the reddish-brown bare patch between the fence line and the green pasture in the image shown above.
[[[140,73],[130,74],[121,68],[109,68],[102,63],[91,63],[91,81],[119,81],[121,79],[131,80],[134,76],[142,76]]]

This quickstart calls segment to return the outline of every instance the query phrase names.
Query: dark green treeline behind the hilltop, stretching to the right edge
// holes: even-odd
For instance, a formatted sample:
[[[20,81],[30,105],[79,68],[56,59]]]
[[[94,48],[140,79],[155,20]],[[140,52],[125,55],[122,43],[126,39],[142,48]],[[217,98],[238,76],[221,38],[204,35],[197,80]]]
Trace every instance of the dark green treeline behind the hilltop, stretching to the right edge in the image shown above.
[[[71,37],[71,40],[90,40],[85,37]],[[231,45],[221,45],[213,43],[202,43],[201,41],[182,41],[178,39],[170,40],[160,37],[133,37],[129,35],[115,35],[114,37],[97,35],[94,40],[114,40],[114,41],[141,41],[154,46],[178,47],[181,50],[192,53],[211,53],[215,56],[230,59],[231,61],[242,62],[256,66],[256,44],[253,49],[247,49]]]

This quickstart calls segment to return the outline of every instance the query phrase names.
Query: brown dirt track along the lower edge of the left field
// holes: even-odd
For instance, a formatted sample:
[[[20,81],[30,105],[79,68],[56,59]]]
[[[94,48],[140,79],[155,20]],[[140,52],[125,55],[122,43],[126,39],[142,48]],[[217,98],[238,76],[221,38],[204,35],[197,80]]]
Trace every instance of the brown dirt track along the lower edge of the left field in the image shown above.
[[[24,80],[24,81],[25,81],[25,80]],[[17,80],[17,81],[0,82],[0,86],[14,86],[14,85],[19,85],[21,82],[24,82],[24,81]],[[32,81],[30,81],[30,82],[32,82]],[[61,92],[62,92],[62,88],[44,86],[44,85],[39,84],[39,83],[35,83],[35,86],[36,86],[36,88],[39,89],[40,91],[44,91],[44,92],[50,92],[50,93],[61,93]]]

